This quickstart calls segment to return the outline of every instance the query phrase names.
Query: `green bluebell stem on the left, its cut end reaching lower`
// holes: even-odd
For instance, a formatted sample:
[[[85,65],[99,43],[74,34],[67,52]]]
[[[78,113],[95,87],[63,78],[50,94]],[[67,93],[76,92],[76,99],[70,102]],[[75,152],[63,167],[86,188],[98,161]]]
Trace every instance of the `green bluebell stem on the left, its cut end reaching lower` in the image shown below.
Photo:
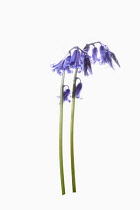
[[[59,165],[62,195],[65,194],[65,181],[63,169],[63,88],[64,88],[65,73],[62,75],[60,86],[60,117],[59,117]]]

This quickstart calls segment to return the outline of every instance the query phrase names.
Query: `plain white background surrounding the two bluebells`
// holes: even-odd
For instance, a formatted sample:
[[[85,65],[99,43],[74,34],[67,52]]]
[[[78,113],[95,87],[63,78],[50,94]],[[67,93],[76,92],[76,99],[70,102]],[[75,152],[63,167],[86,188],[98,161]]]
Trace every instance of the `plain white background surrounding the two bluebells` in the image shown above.
[[[140,209],[139,18],[136,0],[1,0],[1,210]],[[95,66],[82,80],[75,116],[77,193],[71,190],[65,103],[62,196],[61,78],[50,64],[94,41],[108,45],[121,68]]]

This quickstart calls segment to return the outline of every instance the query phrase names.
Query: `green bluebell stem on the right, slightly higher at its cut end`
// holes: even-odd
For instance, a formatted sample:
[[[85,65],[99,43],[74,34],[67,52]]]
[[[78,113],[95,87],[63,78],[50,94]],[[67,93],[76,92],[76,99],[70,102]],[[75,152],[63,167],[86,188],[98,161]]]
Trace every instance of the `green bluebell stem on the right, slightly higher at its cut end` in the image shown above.
[[[75,70],[75,74],[74,74],[74,78],[73,78],[71,122],[70,122],[70,156],[71,156],[71,176],[72,176],[72,190],[73,190],[73,192],[76,192],[75,164],[74,164],[74,111],[75,111],[75,88],[76,88],[77,71],[78,71],[78,69]]]

